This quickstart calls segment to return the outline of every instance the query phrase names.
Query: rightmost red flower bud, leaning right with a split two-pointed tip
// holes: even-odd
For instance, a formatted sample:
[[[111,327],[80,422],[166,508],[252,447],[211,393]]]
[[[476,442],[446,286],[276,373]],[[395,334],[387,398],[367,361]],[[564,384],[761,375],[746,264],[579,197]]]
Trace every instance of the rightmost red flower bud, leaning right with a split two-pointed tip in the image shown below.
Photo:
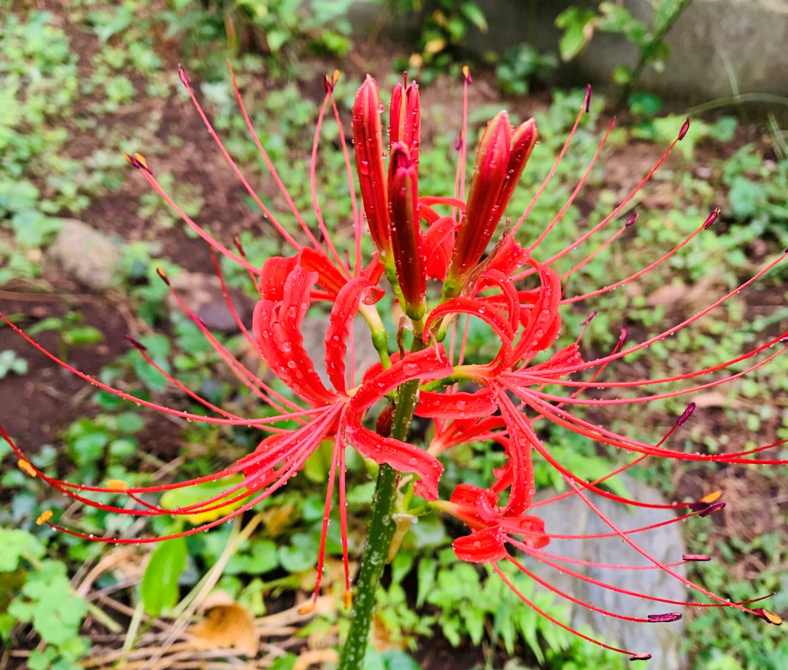
[[[497,114],[485,128],[449,270],[452,284],[458,284],[484,254],[536,141],[533,119],[511,132],[506,112]]]

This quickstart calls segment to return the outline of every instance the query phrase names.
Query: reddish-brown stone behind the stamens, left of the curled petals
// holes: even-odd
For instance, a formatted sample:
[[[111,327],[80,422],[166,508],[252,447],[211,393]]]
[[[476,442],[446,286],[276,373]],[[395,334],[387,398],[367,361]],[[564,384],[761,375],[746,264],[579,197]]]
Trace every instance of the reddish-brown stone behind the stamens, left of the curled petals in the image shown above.
[[[215,274],[181,272],[177,277],[170,279],[170,285],[184,304],[201,318],[208,328],[221,330],[222,333],[236,333],[239,330],[221,290],[221,281]],[[244,326],[250,326],[255,301],[236,288],[228,287],[228,293],[241,322]],[[167,305],[173,311],[180,310],[173,296],[167,297]]]

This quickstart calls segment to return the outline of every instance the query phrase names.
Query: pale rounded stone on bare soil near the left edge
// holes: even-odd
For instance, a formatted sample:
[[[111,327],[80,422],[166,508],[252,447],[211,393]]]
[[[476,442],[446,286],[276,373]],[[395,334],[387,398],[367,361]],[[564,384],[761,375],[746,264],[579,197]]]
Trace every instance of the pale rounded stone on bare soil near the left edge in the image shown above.
[[[47,254],[80,284],[103,291],[113,283],[120,253],[108,237],[76,219],[65,219]]]

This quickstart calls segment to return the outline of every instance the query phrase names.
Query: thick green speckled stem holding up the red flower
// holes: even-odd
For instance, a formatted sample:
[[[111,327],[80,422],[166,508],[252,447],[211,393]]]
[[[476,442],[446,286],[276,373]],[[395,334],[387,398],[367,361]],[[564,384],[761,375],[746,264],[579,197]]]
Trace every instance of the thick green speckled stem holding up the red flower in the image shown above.
[[[414,337],[411,352],[417,352],[425,346],[421,337]],[[418,379],[400,386],[400,398],[392,422],[392,437],[396,440],[404,440],[407,437],[407,429],[411,426],[411,418],[416,406],[417,390]],[[359,670],[364,662],[375,605],[375,591],[381,581],[383,568],[388,560],[388,549],[396,530],[392,514],[396,508],[398,478],[399,473],[389,465],[381,465],[377,472],[370,527],[366,535],[359,575],[353,589],[354,602],[351,609],[350,630],[340,653],[339,670]]]

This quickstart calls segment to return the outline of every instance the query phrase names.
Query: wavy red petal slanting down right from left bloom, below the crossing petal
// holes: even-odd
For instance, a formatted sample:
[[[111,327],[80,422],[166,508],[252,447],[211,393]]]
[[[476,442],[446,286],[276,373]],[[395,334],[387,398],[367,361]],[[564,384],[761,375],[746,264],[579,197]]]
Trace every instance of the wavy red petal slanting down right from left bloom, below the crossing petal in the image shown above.
[[[345,434],[351,445],[375,463],[387,463],[398,472],[414,472],[421,478],[415,482],[414,491],[428,501],[437,500],[443,465],[435,456],[414,445],[366,430],[355,421],[348,422]]]

